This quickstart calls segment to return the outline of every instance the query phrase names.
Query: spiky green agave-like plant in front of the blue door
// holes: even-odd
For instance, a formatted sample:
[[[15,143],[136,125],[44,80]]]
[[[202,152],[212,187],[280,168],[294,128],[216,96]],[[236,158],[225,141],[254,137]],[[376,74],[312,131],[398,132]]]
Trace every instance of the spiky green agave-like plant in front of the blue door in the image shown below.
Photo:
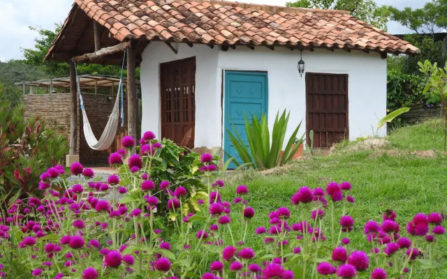
[[[251,119],[251,123],[247,115],[245,115],[245,131],[249,142],[248,147],[244,144],[241,135],[239,135],[234,126],[234,133],[231,133],[227,129],[231,143],[235,146],[244,165],[253,165],[257,169],[271,169],[278,165],[284,165],[291,160],[293,154],[295,154],[302,144],[304,135],[298,141],[295,140],[298,130],[300,130],[300,122],[289,138],[283,156],[281,157],[281,149],[284,145],[289,117],[290,112],[286,114],[286,110],[284,110],[281,116],[279,116],[279,112],[277,113],[272,130],[272,142],[270,142],[267,115],[263,113],[261,114],[261,119],[258,119],[255,113]],[[295,145],[293,145],[294,142]]]

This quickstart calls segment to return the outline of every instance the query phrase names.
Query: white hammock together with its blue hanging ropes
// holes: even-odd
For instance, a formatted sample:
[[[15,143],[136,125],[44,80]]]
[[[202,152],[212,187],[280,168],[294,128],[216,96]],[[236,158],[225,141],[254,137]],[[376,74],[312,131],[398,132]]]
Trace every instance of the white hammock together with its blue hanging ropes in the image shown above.
[[[107,125],[105,125],[104,131],[99,138],[96,139],[93,131],[91,130],[89,119],[87,118],[87,112],[85,112],[84,100],[82,99],[80,90],[80,77],[78,76],[78,71],[76,71],[76,80],[78,84],[78,93],[80,100],[80,107],[82,110],[82,120],[84,121],[84,136],[87,144],[89,144],[91,149],[94,150],[105,150],[112,145],[115,137],[117,136],[117,128],[119,122],[119,97],[121,95],[121,126],[124,125],[124,93],[123,93],[123,69],[124,69],[124,58],[126,57],[126,52],[124,51],[123,64],[121,68],[121,76],[119,77],[119,86],[117,92],[117,98],[115,99],[115,105],[113,106],[112,113],[109,116]],[[75,64],[76,68],[76,64]]]

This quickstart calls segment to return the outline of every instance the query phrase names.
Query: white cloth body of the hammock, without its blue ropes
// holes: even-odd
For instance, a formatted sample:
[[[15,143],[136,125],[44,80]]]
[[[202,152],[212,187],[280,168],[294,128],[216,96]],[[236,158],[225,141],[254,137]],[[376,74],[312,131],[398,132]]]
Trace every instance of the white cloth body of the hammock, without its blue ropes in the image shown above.
[[[79,89],[78,84],[78,91],[79,91],[79,100],[82,110],[82,120],[84,121],[84,136],[85,140],[87,141],[87,144],[89,144],[91,149],[94,150],[105,150],[112,145],[112,142],[115,140],[115,137],[117,136],[117,128],[118,128],[118,121],[119,121],[119,92],[122,86],[122,80],[119,80],[119,86],[118,86],[118,92],[117,92],[117,98],[115,100],[115,105],[113,106],[112,113],[109,116],[109,120],[107,121],[107,125],[104,128],[103,134],[99,138],[99,140],[96,140],[96,137],[91,130],[89,119],[87,118],[87,113],[85,112],[84,107],[84,100],[82,100],[82,95]]]

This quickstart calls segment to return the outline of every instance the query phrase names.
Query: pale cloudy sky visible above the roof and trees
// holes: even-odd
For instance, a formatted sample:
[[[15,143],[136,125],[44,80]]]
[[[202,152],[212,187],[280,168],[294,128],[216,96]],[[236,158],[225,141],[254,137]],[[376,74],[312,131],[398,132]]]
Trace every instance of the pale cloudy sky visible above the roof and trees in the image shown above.
[[[284,6],[286,0],[238,0]],[[291,1],[291,0],[289,0]],[[381,5],[397,8],[420,8],[428,0],[376,0]],[[0,0],[0,61],[23,59],[22,48],[34,46],[37,37],[29,27],[54,29],[55,23],[64,22],[73,0]],[[409,30],[397,22],[388,24],[390,33],[406,33]]]

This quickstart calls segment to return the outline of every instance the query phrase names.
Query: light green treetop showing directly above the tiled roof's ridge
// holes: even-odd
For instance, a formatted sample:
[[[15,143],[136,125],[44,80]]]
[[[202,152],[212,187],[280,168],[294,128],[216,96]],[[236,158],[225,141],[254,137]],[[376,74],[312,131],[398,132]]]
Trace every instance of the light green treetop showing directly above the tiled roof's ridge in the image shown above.
[[[286,3],[288,7],[347,10],[369,24],[386,30],[390,11],[387,6],[378,6],[374,0],[298,0]]]

